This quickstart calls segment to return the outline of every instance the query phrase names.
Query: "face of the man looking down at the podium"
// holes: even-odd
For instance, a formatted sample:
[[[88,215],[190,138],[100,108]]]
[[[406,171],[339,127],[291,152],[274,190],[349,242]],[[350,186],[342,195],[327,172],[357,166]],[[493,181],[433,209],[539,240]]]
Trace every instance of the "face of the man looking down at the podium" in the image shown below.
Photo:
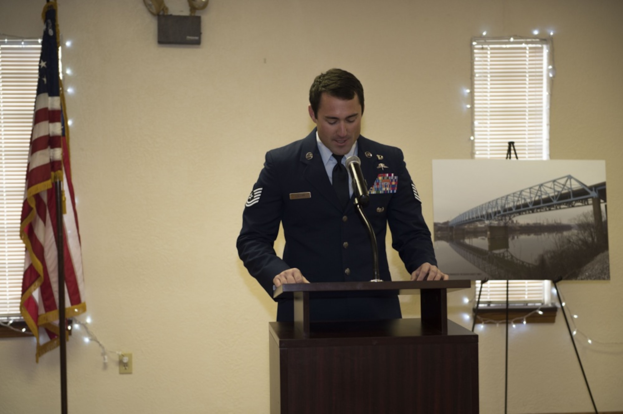
[[[346,155],[361,132],[359,97],[344,100],[323,93],[318,105],[318,117],[309,107],[310,117],[318,127],[318,137],[335,155]]]

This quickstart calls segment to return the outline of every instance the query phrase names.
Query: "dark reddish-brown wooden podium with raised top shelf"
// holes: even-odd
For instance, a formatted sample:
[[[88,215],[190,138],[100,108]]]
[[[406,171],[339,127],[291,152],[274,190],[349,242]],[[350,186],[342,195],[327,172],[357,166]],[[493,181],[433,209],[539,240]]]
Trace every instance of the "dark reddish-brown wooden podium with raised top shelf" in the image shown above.
[[[478,413],[478,335],[447,319],[470,281],[285,284],[295,322],[270,322],[271,414]],[[310,322],[335,292],[419,294],[421,319]],[[363,292],[363,293],[362,293]]]

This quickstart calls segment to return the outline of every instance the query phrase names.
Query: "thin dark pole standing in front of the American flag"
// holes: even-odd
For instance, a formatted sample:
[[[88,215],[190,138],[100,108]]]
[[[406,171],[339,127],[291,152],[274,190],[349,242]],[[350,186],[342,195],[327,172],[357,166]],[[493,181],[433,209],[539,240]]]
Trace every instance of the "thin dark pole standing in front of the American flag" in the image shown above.
[[[67,414],[67,323],[65,320],[65,262],[62,178],[54,180],[56,195],[56,249],[59,261],[60,412]]]

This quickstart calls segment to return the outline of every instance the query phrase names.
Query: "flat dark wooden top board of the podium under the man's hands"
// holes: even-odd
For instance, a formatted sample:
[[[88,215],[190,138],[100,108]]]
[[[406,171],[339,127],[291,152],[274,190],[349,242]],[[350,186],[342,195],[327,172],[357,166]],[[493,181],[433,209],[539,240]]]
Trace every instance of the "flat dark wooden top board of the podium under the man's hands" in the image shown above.
[[[366,292],[370,294],[414,295],[424,289],[457,291],[472,286],[469,280],[456,281],[392,281],[392,282],[318,282],[289,283],[275,289],[273,297],[291,297],[294,292]]]

